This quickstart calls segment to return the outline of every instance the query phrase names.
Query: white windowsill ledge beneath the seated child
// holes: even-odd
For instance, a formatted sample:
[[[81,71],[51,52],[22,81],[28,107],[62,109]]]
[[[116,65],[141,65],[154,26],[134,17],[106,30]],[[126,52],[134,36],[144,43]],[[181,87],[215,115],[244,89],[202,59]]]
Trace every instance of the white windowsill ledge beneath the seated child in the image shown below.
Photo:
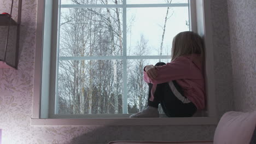
[[[217,125],[216,117],[173,118],[32,118],[32,126],[49,125]]]

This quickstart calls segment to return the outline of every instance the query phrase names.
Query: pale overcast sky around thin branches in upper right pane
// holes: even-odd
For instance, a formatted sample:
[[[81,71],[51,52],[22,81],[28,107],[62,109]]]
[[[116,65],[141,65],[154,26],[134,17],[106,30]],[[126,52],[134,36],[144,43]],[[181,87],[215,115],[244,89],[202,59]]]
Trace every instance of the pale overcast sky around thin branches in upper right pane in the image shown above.
[[[127,49],[135,47],[140,35],[143,34],[144,38],[148,39],[148,46],[150,48],[149,55],[158,55],[161,44],[163,27],[165,22],[167,8],[129,8],[127,9],[127,21],[132,16],[135,21],[131,27],[131,35],[127,33]],[[173,14],[172,14],[173,13]],[[172,16],[171,16],[172,14]],[[166,23],[166,32],[164,38],[164,51],[163,55],[170,55],[171,44],[173,37],[182,31],[189,31],[186,25],[186,20],[189,20],[188,8],[176,7],[169,10],[170,19]],[[168,49],[167,49],[167,47]],[[128,52],[128,51],[127,51]],[[131,52],[130,55],[133,55]]]

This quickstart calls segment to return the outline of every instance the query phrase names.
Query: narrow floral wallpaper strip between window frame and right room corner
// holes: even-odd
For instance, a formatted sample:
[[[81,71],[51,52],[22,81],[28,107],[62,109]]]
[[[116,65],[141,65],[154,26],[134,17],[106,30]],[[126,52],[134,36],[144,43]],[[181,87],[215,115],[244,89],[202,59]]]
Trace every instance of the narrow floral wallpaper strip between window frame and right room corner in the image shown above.
[[[226,1],[211,1],[216,107],[219,118],[233,109],[232,65]]]

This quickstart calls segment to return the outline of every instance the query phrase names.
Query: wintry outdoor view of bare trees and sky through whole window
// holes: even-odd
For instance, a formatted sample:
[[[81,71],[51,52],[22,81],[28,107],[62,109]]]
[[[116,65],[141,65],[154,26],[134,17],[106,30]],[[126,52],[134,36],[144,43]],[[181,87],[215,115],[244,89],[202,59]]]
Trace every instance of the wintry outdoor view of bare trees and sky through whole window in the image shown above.
[[[189,31],[188,1],[60,2],[56,114],[144,109],[143,68],[171,61],[174,35]]]

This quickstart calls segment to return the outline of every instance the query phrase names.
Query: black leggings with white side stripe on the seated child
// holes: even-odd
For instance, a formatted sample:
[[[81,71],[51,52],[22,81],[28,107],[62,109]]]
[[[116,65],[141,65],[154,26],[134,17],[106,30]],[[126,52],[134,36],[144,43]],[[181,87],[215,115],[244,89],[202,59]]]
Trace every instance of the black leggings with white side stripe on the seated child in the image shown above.
[[[156,63],[155,66],[165,65],[165,63],[159,62]],[[176,81],[172,81],[173,85],[176,87],[177,91],[183,95],[182,88],[178,85]],[[149,94],[148,94],[148,106],[153,106],[158,108],[159,103],[162,106],[162,110],[164,110],[165,114],[168,117],[191,117],[196,112],[196,106],[190,103],[183,103],[179,100],[172,92],[170,86],[167,82],[160,83],[156,86],[156,90],[154,93],[154,100],[150,101],[151,98],[151,90],[153,87],[152,83],[148,83],[149,86]],[[187,99],[187,97],[184,97]]]

